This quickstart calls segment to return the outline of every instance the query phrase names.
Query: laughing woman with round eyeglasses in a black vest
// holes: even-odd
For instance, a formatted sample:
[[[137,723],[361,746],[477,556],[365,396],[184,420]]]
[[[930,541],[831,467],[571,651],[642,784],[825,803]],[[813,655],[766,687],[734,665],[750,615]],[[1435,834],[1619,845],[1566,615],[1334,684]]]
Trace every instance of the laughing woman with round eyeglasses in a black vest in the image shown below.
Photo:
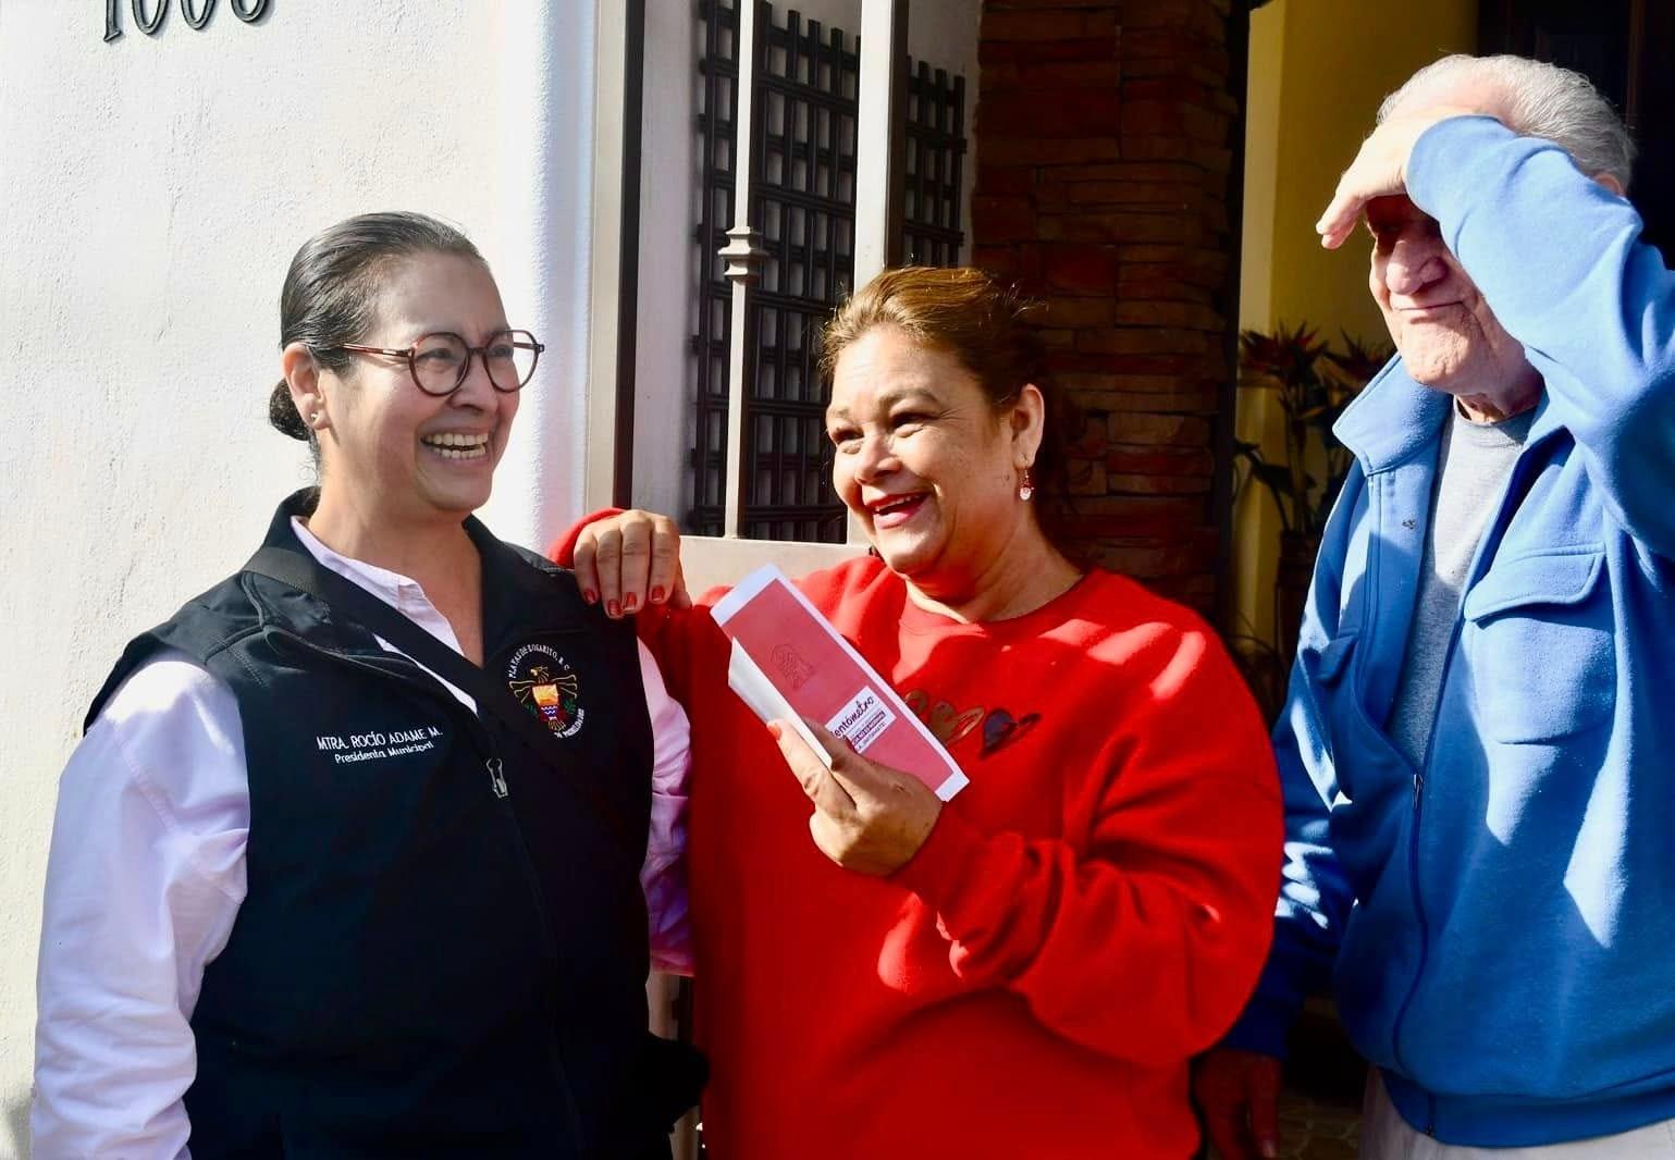
[[[643,984],[682,954],[687,720],[471,516],[543,346],[419,214],[310,239],[280,313],[270,418],[320,482],[89,711],[35,1155],[668,1157],[702,1063]]]

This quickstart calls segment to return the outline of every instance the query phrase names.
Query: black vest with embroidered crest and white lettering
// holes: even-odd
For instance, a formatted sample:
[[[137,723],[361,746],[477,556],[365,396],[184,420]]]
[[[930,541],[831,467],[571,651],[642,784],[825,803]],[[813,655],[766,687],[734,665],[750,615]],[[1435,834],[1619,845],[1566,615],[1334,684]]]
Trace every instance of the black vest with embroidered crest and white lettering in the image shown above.
[[[310,499],[280,507],[266,544],[307,556],[290,516]],[[198,1160],[668,1155],[633,629],[466,527],[484,668],[546,723],[563,775],[362,626],[251,572],[129,644],[89,713],[176,648],[243,718],[248,896],[191,1021]]]

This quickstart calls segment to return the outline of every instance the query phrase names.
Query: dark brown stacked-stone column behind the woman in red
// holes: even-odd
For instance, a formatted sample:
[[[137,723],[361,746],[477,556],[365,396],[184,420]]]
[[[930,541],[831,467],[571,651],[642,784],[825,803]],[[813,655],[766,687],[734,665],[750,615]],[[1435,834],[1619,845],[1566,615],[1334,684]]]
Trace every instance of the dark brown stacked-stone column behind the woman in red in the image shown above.
[[[1045,298],[1075,532],[1209,613],[1234,301],[1228,0],[985,0],[973,261]]]

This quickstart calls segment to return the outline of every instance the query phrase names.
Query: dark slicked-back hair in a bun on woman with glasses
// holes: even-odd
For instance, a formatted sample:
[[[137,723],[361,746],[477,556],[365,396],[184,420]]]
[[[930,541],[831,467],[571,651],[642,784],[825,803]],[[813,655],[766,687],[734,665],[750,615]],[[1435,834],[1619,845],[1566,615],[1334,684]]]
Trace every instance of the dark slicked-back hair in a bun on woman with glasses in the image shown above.
[[[280,291],[280,348],[303,343],[327,370],[343,370],[343,343],[360,341],[372,328],[380,278],[402,258],[459,254],[482,261],[466,234],[417,213],[360,214],[322,229],[291,258]],[[281,378],[268,397],[275,430],[313,444],[313,430],[296,413]]]

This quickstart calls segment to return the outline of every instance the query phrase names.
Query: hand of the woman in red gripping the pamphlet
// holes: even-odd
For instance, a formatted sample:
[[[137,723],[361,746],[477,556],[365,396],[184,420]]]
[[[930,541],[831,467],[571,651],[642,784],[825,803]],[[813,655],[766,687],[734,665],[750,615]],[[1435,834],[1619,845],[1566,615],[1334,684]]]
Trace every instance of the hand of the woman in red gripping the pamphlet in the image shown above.
[[[941,802],[911,773],[868,762],[816,721],[807,726],[832,755],[831,768],[789,721],[769,721],[767,728],[814,802],[809,815],[814,845],[846,870],[894,874],[931,835]]]

